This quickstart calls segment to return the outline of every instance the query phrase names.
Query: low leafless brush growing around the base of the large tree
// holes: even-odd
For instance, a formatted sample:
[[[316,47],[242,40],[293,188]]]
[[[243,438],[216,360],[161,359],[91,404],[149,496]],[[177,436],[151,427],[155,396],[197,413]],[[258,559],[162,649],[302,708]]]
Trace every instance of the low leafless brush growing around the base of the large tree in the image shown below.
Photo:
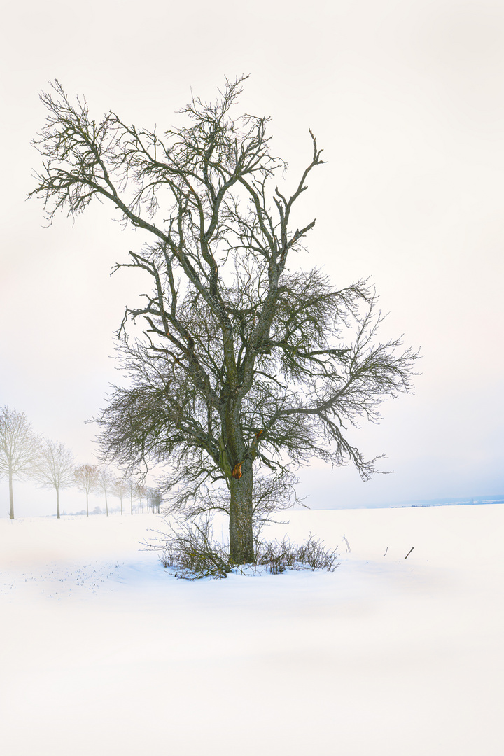
[[[337,551],[329,550],[323,541],[311,534],[301,546],[292,544],[289,538],[256,541],[255,562],[234,565],[229,561],[227,545],[213,540],[209,517],[192,525],[175,520],[175,524],[169,522],[169,533],[156,532],[159,538],[144,545],[160,550],[159,560],[163,567],[174,569],[175,577],[185,580],[227,578],[230,572],[240,575],[280,575],[289,569],[332,572],[339,566]]]

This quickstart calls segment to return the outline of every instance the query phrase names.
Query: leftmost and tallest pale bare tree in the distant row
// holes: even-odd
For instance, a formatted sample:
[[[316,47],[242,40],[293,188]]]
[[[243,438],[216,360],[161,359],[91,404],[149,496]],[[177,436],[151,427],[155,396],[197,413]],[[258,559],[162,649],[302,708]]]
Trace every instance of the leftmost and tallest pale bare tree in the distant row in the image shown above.
[[[36,465],[39,439],[24,412],[0,407],[0,477],[9,481],[9,517],[14,519],[14,478],[26,479]]]

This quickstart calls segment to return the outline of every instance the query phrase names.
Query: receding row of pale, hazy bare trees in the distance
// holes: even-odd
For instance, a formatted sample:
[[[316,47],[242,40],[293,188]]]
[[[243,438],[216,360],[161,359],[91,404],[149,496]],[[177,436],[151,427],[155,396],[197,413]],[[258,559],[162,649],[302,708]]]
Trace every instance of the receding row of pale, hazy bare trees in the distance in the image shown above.
[[[117,475],[108,465],[77,465],[72,452],[60,442],[36,435],[24,412],[0,407],[0,478],[9,482],[9,516],[14,519],[14,479],[32,480],[42,488],[54,488],[56,512],[60,517],[60,490],[76,487],[85,493],[86,516],[89,516],[89,494],[104,495],[105,512],[109,515],[109,495],[119,498],[121,514],[123,499],[133,514],[138,511],[159,513],[161,496],[135,479]]]

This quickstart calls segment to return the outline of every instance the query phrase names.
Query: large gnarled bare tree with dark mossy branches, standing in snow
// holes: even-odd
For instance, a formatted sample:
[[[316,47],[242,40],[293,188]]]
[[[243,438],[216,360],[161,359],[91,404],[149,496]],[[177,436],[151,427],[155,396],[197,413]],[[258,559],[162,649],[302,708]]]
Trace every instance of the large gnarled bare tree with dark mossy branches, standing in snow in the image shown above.
[[[233,115],[242,82],[227,81],[213,104],[193,98],[186,125],[163,137],[113,112],[92,119],[55,82],[41,95],[44,167],[31,193],[50,222],[97,197],[148,234],[116,266],[144,271],[152,289],[119,329],[130,386],[113,388],[100,441],[130,470],[168,466],[175,507],[223,485],[236,563],[254,558],[254,472],[320,457],[368,479],[378,457],[363,457],[348,424],[378,420],[385,398],[409,391],[417,356],[400,339],[379,342],[366,281],[335,288],[318,268],[292,267],[314,228],[294,218],[322,150],[310,131],[305,170],[280,185],[286,163],[271,153],[268,119]],[[143,339],[128,339],[128,318],[143,319]]]

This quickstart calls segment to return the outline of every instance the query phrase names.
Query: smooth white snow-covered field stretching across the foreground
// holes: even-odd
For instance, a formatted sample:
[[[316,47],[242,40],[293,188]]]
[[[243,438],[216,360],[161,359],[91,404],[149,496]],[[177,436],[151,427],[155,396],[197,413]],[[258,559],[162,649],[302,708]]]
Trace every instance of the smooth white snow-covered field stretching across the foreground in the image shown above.
[[[2,754],[501,756],[504,505],[287,516],[335,572],[178,581],[159,517],[0,520]]]

